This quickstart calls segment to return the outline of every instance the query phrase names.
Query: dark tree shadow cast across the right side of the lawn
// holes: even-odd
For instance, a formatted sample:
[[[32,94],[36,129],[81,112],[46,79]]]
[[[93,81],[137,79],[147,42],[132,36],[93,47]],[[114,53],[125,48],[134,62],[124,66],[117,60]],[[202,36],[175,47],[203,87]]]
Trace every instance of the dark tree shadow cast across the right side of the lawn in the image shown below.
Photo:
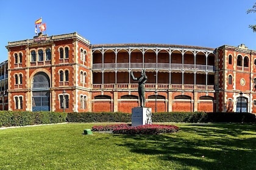
[[[139,154],[198,169],[256,169],[256,124],[185,124],[174,134],[123,135]],[[190,168],[189,168],[190,167]]]

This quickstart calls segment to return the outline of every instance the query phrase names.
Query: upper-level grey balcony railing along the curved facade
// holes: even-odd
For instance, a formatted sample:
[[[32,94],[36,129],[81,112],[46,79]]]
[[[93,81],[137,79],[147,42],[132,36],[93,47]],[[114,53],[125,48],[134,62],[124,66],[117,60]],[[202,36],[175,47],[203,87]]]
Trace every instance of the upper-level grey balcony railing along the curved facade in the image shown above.
[[[183,66],[182,66],[183,65]],[[190,69],[190,70],[208,70],[215,71],[215,66],[206,66],[201,64],[179,64],[179,63],[95,63],[93,70],[97,69]]]

